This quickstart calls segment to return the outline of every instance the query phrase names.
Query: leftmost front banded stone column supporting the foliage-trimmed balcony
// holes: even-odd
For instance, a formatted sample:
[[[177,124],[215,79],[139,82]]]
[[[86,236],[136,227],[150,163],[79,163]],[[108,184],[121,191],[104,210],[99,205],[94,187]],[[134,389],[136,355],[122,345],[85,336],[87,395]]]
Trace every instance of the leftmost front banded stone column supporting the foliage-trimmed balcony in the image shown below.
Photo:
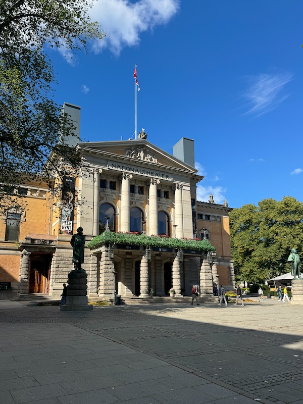
[[[102,248],[100,260],[100,282],[99,296],[113,299],[115,289],[115,265],[114,260],[109,258],[108,248]]]

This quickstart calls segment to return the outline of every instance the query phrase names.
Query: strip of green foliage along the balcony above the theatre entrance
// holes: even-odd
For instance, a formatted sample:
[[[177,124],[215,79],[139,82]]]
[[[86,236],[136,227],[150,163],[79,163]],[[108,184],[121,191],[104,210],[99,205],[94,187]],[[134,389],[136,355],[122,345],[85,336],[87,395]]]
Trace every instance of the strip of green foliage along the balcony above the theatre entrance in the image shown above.
[[[104,231],[102,234],[94,237],[89,248],[96,248],[99,245],[109,244],[129,244],[142,245],[144,247],[162,247],[177,249],[193,249],[199,251],[215,251],[216,248],[211,245],[209,240],[188,240],[181,238],[170,238],[160,236],[146,236],[145,234],[132,233],[115,233],[112,231]]]

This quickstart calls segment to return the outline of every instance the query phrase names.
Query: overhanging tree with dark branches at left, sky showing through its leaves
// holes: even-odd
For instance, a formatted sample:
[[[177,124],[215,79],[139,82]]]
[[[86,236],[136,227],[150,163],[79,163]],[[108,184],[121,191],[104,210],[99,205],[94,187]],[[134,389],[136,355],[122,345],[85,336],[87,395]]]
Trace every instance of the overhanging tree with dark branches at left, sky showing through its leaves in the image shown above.
[[[90,7],[88,0],[0,0],[0,211],[28,179],[43,175],[51,185],[63,166],[79,168],[66,141],[74,125],[53,100],[56,80],[45,49],[87,52],[87,39],[102,39]],[[60,169],[51,151],[65,161]]]

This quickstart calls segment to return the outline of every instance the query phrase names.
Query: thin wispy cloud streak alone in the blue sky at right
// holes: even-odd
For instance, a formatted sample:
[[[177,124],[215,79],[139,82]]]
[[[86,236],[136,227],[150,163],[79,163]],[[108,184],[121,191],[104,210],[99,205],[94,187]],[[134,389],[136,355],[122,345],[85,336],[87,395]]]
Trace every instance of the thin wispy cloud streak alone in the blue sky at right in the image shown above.
[[[244,92],[246,114],[262,115],[274,110],[288,95],[282,94],[284,86],[292,80],[291,73],[265,74],[248,77],[250,85]]]

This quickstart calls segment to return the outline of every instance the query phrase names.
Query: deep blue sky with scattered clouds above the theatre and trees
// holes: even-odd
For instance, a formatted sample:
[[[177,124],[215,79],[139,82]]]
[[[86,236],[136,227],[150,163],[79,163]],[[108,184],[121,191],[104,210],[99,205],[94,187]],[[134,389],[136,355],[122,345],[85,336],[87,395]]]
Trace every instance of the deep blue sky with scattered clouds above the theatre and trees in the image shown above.
[[[301,0],[99,0],[107,32],[72,59],[48,49],[55,100],[81,106],[85,141],[138,131],[172,154],[194,139],[197,199],[303,201]]]

